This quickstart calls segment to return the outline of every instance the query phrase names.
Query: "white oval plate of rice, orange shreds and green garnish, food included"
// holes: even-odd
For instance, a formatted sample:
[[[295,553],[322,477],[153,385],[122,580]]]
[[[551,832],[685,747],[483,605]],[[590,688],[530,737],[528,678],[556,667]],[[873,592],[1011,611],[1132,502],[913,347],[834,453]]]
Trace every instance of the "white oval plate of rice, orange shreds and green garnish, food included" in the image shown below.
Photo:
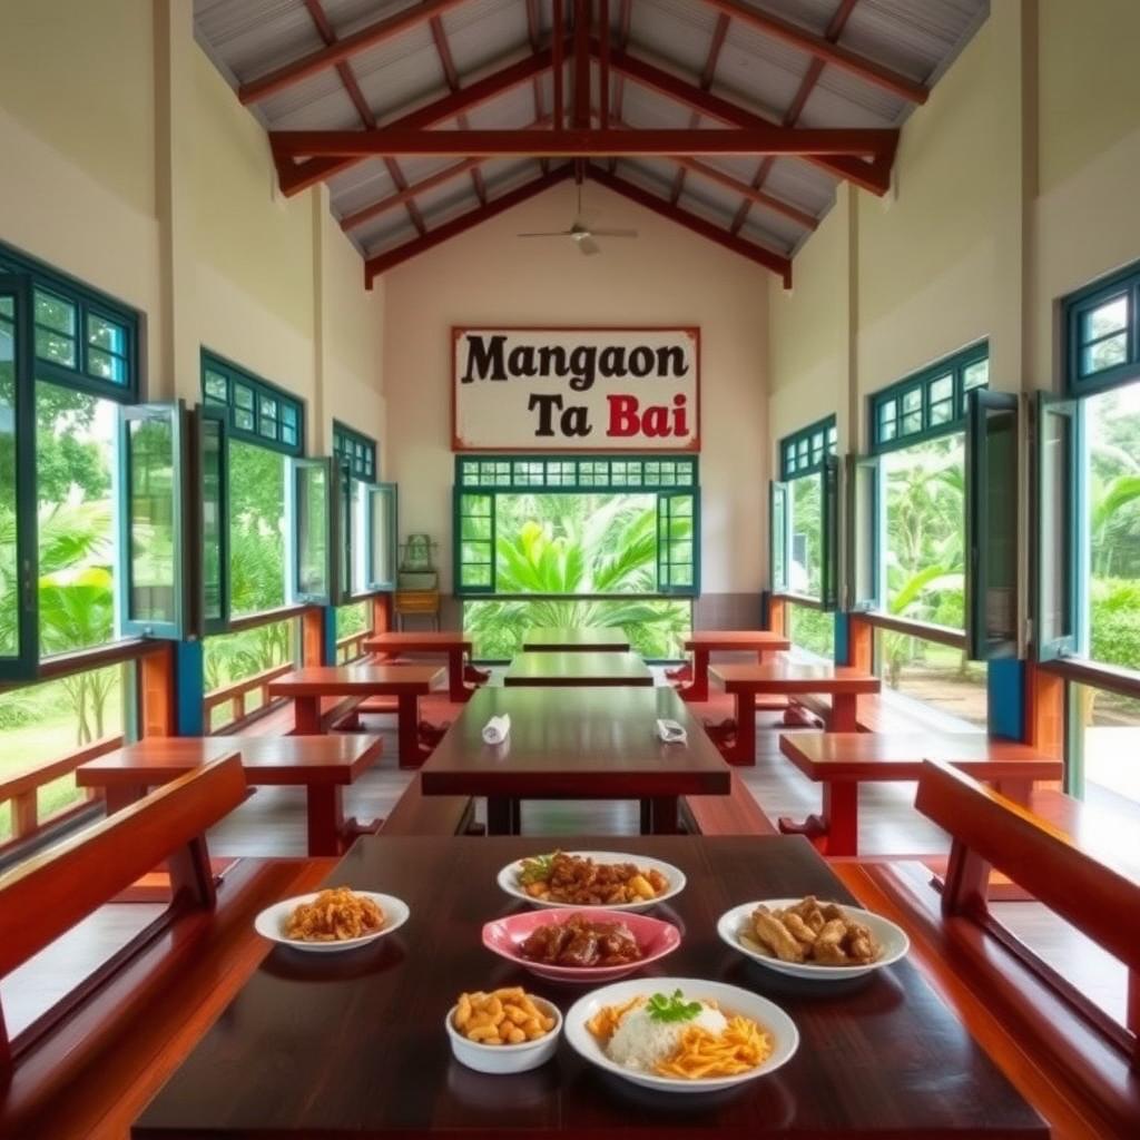
[[[717,1092],[774,1073],[799,1048],[774,1002],[723,982],[635,978],[586,994],[565,1016],[586,1060],[646,1089]]]

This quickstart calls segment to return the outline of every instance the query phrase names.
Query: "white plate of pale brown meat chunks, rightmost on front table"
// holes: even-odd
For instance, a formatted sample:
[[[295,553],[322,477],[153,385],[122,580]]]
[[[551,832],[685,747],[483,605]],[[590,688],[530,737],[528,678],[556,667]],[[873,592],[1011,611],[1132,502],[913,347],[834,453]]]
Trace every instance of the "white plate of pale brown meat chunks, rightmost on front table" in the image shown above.
[[[814,895],[741,903],[720,915],[717,934],[762,966],[820,982],[882,969],[911,946],[906,931],[882,915]]]

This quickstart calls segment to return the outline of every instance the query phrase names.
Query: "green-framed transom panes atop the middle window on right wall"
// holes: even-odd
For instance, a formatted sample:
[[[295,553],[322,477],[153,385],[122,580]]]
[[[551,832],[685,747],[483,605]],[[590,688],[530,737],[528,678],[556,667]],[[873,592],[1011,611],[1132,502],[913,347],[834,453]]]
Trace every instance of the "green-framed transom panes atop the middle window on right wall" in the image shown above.
[[[962,431],[969,393],[990,384],[990,342],[979,341],[870,397],[871,453]]]

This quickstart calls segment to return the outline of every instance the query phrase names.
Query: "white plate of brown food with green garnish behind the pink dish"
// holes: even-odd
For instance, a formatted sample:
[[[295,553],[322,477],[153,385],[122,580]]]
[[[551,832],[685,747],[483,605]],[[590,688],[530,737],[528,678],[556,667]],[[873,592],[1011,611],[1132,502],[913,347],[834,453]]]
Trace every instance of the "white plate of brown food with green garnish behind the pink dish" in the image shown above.
[[[498,885],[532,906],[644,911],[681,894],[684,873],[671,863],[618,852],[551,852],[507,863]]]

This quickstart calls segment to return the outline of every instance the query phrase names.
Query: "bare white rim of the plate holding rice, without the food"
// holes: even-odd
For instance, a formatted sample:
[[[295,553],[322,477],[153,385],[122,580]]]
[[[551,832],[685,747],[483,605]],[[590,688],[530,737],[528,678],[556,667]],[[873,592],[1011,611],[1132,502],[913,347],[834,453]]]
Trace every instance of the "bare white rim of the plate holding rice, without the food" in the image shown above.
[[[617,1061],[610,1060],[601,1042],[589,1032],[586,1023],[603,1005],[620,1005],[638,994],[646,997],[656,993],[671,994],[679,990],[691,1001],[703,999],[715,1001],[725,1016],[740,1015],[751,1018],[772,1034],[774,1048],[767,1060],[747,1073],[736,1076],[701,1077],[686,1081],[682,1077],[658,1076],[642,1069],[629,1069]],[[799,1048],[799,1031],[796,1023],[776,1004],[769,1002],[750,990],[741,990],[723,982],[702,982],[700,978],[635,978],[632,982],[614,982],[593,993],[586,994],[570,1007],[564,1019],[565,1039],[571,1048],[608,1073],[624,1077],[645,1089],[657,1089],[663,1092],[718,1092],[731,1089],[758,1076],[774,1073],[785,1065]]]

